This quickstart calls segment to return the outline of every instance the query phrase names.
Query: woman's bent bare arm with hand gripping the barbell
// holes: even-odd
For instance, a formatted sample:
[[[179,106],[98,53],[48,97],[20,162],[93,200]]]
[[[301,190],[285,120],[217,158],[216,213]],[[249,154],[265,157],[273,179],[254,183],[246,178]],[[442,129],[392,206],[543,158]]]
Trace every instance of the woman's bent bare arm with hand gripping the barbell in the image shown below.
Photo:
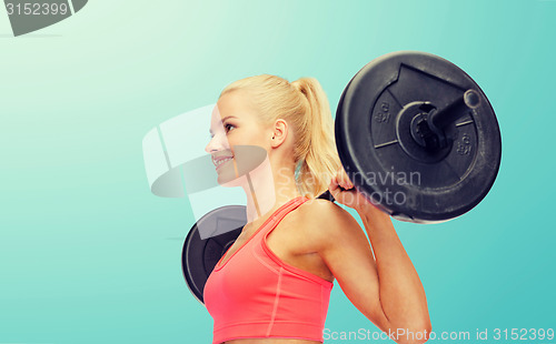
[[[397,343],[426,342],[431,326],[425,291],[390,216],[358,193],[342,170],[329,189],[337,202],[357,211],[371,246],[347,211],[319,202],[320,253],[342,291]]]

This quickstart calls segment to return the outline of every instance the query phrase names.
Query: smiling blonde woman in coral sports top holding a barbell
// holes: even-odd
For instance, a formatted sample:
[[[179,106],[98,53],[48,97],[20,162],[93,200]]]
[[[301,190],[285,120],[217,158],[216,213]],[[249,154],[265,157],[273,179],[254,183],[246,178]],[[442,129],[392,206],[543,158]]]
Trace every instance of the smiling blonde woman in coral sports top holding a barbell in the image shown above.
[[[387,214],[356,191],[337,155],[320,84],[258,75],[228,85],[212,113],[206,151],[220,175],[236,171],[236,146],[267,153],[227,186],[247,195],[248,223],[205,286],[214,343],[320,343],[332,282],[397,343],[430,332],[425,292]],[[354,208],[315,199],[330,190]],[[373,246],[373,249],[371,249]],[[397,335],[396,335],[397,334]]]

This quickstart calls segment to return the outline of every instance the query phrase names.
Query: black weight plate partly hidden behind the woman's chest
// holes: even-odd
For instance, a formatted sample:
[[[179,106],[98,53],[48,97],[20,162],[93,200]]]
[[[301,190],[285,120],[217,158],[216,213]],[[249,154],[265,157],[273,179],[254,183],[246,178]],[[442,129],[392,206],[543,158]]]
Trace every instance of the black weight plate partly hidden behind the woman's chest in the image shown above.
[[[239,227],[236,227],[241,223]],[[181,251],[181,270],[186,279],[187,286],[195,297],[202,304],[205,300],[202,293],[205,284],[216,264],[234,244],[247,223],[245,205],[227,205],[210,211],[197,221],[187,234]],[[230,224],[236,224],[230,227]],[[207,239],[201,239],[199,227],[205,231],[210,229],[210,233],[221,233]]]

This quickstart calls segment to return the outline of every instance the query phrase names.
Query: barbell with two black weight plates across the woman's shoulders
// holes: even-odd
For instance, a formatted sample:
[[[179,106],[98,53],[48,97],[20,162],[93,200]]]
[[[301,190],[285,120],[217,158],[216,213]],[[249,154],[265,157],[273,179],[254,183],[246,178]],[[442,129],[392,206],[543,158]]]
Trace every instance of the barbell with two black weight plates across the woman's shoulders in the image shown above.
[[[494,184],[502,156],[485,93],[457,65],[424,52],[389,53],[357,72],[339,100],[335,139],[354,186],[390,216],[415,223],[448,221],[476,206]],[[319,198],[334,201],[328,191]],[[201,223],[229,227],[201,239]],[[182,271],[199,302],[246,223],[245,206],[229,205],[190,229]]]

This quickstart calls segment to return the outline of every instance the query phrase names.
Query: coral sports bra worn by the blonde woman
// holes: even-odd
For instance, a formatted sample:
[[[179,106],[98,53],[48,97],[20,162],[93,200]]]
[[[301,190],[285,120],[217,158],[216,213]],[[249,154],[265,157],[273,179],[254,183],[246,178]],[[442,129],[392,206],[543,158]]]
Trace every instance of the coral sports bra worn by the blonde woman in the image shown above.
[[[298,196],[281,205],[224,264],[226,254],[217,263],[203,292],[215,321],[214,344],[267,337],[324,342],[334,283],[285,263],[266,243],[280,220],[308,200]]]

